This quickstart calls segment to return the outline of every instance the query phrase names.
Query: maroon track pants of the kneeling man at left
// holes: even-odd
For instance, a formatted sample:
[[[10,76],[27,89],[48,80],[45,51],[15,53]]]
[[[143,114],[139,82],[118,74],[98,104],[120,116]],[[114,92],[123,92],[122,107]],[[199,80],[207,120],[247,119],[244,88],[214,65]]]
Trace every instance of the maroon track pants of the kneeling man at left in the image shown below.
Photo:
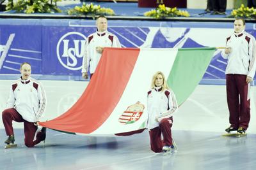
[[[36,134],[36,140],[33,141],[38,127],[35,126],[34,123],[32,122],[28,122],[24,120],[14,108],[4,110],[2,113],[2,119],[3,119],[6,135],[10,136],[14,134],[13,127],[12,127],[13,120],[15,122],[24,122],[25,145],[28,147],[33,147],[36,144],[40,143],[42,139],[42,132],[38,132]]]

